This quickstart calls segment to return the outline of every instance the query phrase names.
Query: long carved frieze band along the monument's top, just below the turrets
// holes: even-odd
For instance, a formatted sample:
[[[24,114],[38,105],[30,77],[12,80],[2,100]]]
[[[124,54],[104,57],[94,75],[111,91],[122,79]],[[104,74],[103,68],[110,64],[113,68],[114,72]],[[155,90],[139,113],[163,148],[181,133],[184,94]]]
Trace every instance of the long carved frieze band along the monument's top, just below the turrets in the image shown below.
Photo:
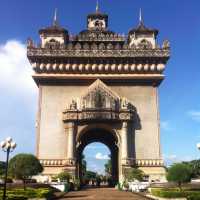
[[[105,58],[116,58],[116,57],[138,57],[138,58],[151,58],[158,57],[163,58],[165,61],[168,60],[170,56],[169,49],[124,49],[124,50],[102,50],[97,49],[97,47],[93,46],[92,50],[68,50],[68,49],[47,49],[47,48],[28,48],[27,51],[28,58],[30,60],[34,60],[34,57],[105,57]]]

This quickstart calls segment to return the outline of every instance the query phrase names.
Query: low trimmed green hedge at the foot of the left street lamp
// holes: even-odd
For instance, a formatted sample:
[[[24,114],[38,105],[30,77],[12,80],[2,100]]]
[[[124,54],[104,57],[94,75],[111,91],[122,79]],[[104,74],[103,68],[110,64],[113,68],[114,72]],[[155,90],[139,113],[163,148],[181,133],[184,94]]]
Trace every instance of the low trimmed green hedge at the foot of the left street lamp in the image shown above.
[[[0,197],[2,197],[3,192],[0,191]],[[28,198],[50,198],[53,196],[52,190],[49,189],[14,189],[7,191],[8,200],[26,200]]]

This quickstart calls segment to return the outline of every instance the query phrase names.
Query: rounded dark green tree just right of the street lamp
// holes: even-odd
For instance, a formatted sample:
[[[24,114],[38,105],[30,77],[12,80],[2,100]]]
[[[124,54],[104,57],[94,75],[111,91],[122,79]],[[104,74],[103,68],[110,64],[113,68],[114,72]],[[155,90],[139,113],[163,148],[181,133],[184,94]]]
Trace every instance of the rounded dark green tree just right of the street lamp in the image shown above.
[[[9,174],[16,179],[21,179],[26,189],[26,179],[38,175],[43,171],[39,160],[32,154],[18,154],[9,161]]]

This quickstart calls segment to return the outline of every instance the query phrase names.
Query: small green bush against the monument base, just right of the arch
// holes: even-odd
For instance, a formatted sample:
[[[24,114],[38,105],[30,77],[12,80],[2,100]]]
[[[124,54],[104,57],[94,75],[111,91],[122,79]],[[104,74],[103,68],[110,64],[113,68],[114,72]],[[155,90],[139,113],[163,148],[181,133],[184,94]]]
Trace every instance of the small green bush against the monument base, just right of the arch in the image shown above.
[[[142,181],[144,178],[144,172],[137,168],[130,168],[125,171],[125,177],[128,181]]]

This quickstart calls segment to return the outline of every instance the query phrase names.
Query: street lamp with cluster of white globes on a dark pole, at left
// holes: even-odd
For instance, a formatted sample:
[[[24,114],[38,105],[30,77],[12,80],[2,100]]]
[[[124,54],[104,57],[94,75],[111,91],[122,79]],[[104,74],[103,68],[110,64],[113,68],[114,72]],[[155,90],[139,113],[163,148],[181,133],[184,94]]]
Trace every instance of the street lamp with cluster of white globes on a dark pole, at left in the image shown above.
[[[5,141],[1,142],[1,148],[4,152],[6,152],[6,172],[5,172],[5,179],[4,179],[4,189],[3,189],[3,200],[6,200],[6,184],[7,184],[7,177],[8,177],[8,160],[10,152],[13,152],[16,148],[17,144],[13,142],[11,137],[6,138]]]

